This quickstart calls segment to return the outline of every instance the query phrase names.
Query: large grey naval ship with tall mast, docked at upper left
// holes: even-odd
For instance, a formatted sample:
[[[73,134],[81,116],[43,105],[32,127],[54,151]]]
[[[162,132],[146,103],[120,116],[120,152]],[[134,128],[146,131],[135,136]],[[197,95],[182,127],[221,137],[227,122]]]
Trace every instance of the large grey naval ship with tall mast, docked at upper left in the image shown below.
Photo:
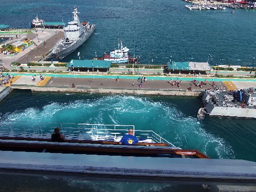
[[[65,37],[54,46],[52,53],[60,59],[66,57],[81,46],[95,30],[95,25],[89,22],[79,22],[77,6],[74,8],[74,21],[68,22],[68,26],[64,28]]]

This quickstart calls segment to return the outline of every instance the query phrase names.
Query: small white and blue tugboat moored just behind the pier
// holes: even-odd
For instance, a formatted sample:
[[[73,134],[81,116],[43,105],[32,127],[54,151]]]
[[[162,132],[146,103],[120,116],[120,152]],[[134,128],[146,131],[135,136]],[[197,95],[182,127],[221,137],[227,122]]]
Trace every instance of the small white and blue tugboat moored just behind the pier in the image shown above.
[[[131,58],[128,54],[129,49],[127,47],[123,47],[123,43],[121,42],[121,49],[119,49],[120,43],[118,39],[118,50],[110,51],[110,54],[104,54],[103,60],[111,61],[111,63],[135,63],[138,61],[137,58]]]

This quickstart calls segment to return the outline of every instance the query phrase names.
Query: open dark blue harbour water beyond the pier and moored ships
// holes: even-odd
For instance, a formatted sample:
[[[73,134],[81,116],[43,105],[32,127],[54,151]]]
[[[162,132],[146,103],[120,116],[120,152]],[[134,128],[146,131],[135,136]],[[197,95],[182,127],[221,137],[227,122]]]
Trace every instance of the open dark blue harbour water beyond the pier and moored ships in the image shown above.
[[[46,21],[68,22],[78,5],[81,21],[95,23],[97,29],[63,61],[78,59],[77,52],[81,59],[91,59],[95,52],[101,57],[117,48],[118,33],[142,63],[151,63],[152,53],[153,63],[165,63],[171,54],[175,61],[207,61],[210,53],[211,65],[253,65],[256,56],[256,10],[190,11],[180,0],[0,0],[0,4],[0,23],[15,28],[28,28],[36,14]]]

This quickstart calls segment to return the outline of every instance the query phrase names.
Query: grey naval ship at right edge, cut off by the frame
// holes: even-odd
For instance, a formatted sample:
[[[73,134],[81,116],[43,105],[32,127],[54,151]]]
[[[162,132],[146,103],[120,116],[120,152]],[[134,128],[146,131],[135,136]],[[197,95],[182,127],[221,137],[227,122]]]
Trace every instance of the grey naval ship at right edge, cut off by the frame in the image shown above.
[[[199,109],[198,118],[203,113],[215,117],[256,118],[256,89],[238,91],[206,90],[203,98],[204,108]]]

